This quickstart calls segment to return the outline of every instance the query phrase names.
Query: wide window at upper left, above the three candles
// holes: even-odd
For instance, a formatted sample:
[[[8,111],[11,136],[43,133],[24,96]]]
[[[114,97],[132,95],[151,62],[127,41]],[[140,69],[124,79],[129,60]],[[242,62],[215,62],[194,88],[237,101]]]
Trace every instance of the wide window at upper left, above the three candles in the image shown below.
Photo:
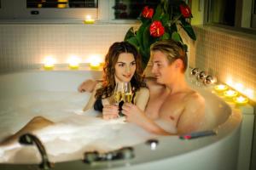
[[[0,21],[70,22],[98,18],[99,0],[1,0]],[[105,0],[104,0],[105,1]],[[59,21],[60,20],[60,21]]]

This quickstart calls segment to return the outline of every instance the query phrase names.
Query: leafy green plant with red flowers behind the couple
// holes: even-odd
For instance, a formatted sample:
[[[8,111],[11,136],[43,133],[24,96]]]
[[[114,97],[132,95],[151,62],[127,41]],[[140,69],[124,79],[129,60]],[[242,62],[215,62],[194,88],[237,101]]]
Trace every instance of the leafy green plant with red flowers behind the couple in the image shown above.
[[[150,45],[164,39],[173,39],[182,42],[179,34],[182,28],[190,38],[196,39],[195,32],[189,21],[192,18],[191,10],[187,3],[182,0],[161,0],[157,8],[143,8],[139,17],[142,24],[137,31],[131,27],[125,35],[125,41],[135,45],[142,55],[143,68],[148,64],[150,56]],[[187,45],[183,43],[183,48],[187,50]]]

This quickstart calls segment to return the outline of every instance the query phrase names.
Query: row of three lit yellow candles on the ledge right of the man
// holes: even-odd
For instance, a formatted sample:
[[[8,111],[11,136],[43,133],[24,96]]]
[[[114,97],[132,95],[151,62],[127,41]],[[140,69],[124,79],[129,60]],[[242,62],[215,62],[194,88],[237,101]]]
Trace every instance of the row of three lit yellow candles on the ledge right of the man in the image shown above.
[[[239,94],[236,90],[230,89],[225,84],[218,84],[214,87],[215,92],[228,102],[234,102],[236,105],[246,105],[249,99],[241,94]]]

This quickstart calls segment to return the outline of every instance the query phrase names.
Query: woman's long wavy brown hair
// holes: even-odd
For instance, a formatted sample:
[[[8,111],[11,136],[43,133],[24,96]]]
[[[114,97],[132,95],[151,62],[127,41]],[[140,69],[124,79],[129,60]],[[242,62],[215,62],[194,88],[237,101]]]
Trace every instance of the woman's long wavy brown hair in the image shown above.
[[[96,90],[96,99],[108,98],[113,94],[115,87],[115,69],[119,54],[130,53],[133,54],[136,62],[136,71],[131,78],[131,87],[136,92],[139,88],[146,87],[143,81],[143,69],[141,63],[141,56],[137,52],[137,48],[129,42],[114,42],[108,49],[108,54],[105,57],[105,64],[103,66],[103,83],[102,88]]]

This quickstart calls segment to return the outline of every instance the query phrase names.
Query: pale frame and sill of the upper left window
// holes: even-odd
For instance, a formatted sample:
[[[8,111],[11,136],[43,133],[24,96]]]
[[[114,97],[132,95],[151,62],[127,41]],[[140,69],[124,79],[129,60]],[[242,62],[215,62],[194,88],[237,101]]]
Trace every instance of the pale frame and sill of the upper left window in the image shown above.
[[[98,0],[99,3],[100,0]],[[98,19],[98,8],[26,8],[26,0],[1,0],[0,22],[76,22],[84,20],[86,15]],[[15,5],[13,5],[15,4]],[[39,14],[31,14],[38,11]]]

